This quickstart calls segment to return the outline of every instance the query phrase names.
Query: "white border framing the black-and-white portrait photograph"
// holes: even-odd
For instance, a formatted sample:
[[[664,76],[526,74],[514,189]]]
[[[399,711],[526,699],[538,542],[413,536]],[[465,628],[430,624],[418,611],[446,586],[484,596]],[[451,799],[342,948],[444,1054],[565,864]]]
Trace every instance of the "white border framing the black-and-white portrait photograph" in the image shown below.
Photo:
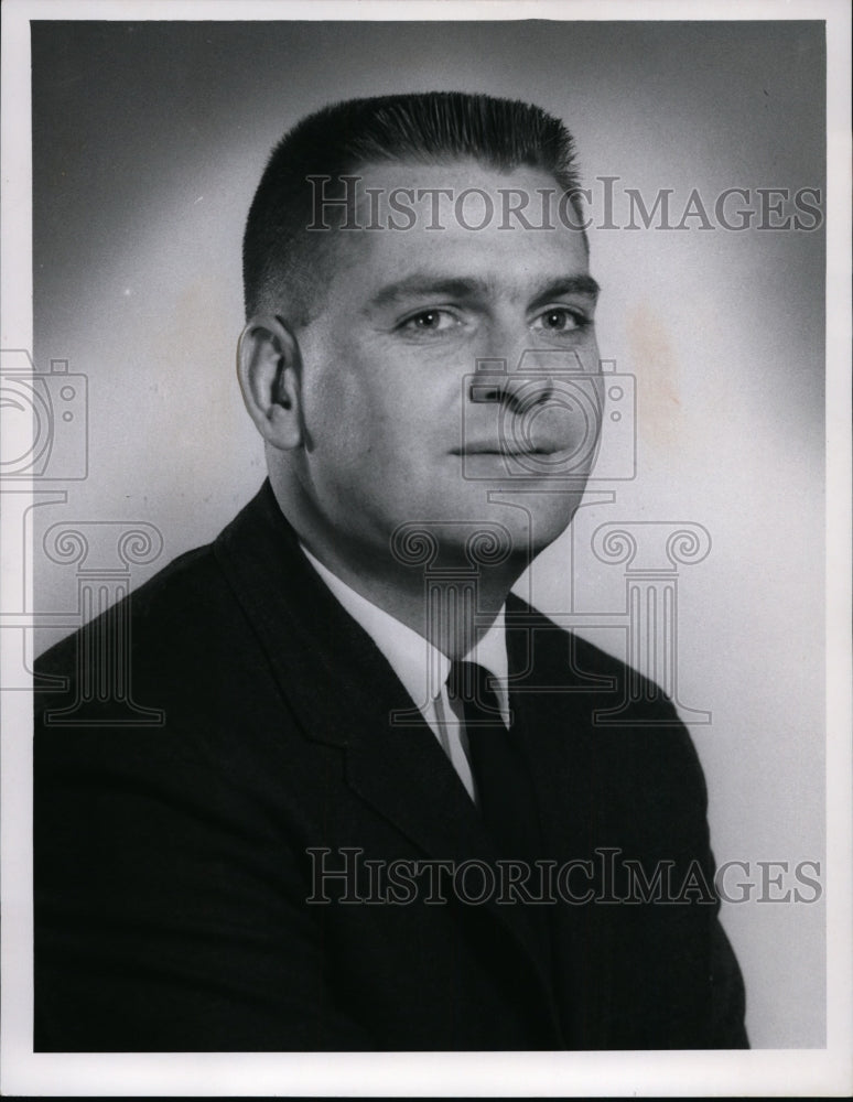
[[[851,828],[850,12],[843,0],[7,0],[2,7],[0,348],[33,347],[30,20],[796,20],[828,24],[827,184],[827,1046],[737,1052],[57,1054],[32,1049],[32,696],[0,693],[0,1090],[47,1095],[601,1096],[853,1091]],[[32,494],[26,480],[14,493]],[[25,498],[24,498],[25,499]],[[32,548],[2,530],[0,605],[32,585]],[[32,593],[25,594],[32,607]],[[11,661],[0,633],[0,684]],[[782,965],[784,966],[784,965]]]

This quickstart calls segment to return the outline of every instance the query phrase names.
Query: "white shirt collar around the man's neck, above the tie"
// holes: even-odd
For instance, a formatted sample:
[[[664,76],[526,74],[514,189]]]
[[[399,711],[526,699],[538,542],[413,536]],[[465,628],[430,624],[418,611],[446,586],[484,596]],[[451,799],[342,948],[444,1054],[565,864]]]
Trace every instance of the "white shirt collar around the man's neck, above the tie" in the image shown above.
[[[337,574],[314,558],[304,544],[300,547],[333,595],[356,623],[370,636],[400,679],[403,688],[420,707],[435,700],[447,680],[451,661],[418,631],[375,605],[343,582]],[[507,640],[503,605],[486,634],[465,655],[465,661],[477,662],[496,679],[494,685],[500,711],[509,712],[507,676]]]

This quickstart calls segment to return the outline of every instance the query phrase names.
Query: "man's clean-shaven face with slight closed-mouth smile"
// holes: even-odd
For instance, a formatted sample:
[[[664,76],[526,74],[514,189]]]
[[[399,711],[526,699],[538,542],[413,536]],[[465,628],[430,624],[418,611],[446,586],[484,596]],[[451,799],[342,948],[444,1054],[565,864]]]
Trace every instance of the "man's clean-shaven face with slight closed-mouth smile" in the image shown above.
[[[555,216],[555,228],[500,228],[499,188],[529,194],[531,210],[537,188],[559,191],[537,170],[456,161],[360,175],[361,195],[381,190],[379,219],[365,201],[361,226],[384,223],[401,187],[482,188],[495,214],[472,229],[485,220],[483,201],[466,201],[457,220],[442,198],[445,228],[431,229],[424,199],[410,229],[336,233],[322,309],[298,334],[303,493],[359,554],[387,555],[407,522],[461,550],[477,521],[504,525],[517,554],[535,553],[571,520],[600,429],[595,284],[581,234]],[[484,359],[508,372],[490,365],[472,379]]]

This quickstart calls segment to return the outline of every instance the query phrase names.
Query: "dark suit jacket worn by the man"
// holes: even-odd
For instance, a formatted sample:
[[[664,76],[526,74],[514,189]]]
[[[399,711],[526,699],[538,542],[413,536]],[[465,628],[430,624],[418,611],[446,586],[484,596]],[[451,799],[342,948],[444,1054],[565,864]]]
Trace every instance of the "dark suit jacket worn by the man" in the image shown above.
[[[489,867],[497,855],[429,727],[389,723],[411,700],[269,485],[132,595],[130,631],[132,695],[163,710],[159,727],[54,725],[79,690],[80,637],[40,663],[69,695],[37,701],[36,1048],[746,1044],[737,963],[701,887],[692,901],[540,905],[548,957],[526,905],[465,901],[446,877],[438,904],[342,901],[335,880],[317,892],[316,847],[327,868],[345,847]],[[691,883],[697,869],[712,883],[704,781],[671,704],[641,682],[634,725],[596,724],[629,671],[517,598],[508,646],[543,857],[594,862],[592,879],[572,874],[577,896],[591,883],[600,899],[622,894],[602,879],[608,849],[649,879],[669,867],[678,886],[692,867]],[[348,890],[370,896],[364,867]]]

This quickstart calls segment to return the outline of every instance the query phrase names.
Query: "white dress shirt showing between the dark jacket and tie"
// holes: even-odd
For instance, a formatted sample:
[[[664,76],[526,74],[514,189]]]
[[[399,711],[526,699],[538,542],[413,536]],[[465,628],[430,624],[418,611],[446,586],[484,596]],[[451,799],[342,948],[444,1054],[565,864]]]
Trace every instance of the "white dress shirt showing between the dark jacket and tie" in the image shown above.
[[[447,676],[451,660],[428,639],[401,620],[379,608],[367,597],[342,582],[315,557],[300,544],[305,558],[320,574],[332,594],[356,623],[370,636],[388,660],[418,711],[432,728],[442,749],[450,758],[460,780],[472,800],[476,800],[474,778],[467,758],[467,739],[462,717],[462,705],[450,699]],[[504,723],[509,726],[509,693],[507,690],[507,641],[505,606],[495,622],[472,647],[465,661],[477,662],[496,679],[493,682]]]

